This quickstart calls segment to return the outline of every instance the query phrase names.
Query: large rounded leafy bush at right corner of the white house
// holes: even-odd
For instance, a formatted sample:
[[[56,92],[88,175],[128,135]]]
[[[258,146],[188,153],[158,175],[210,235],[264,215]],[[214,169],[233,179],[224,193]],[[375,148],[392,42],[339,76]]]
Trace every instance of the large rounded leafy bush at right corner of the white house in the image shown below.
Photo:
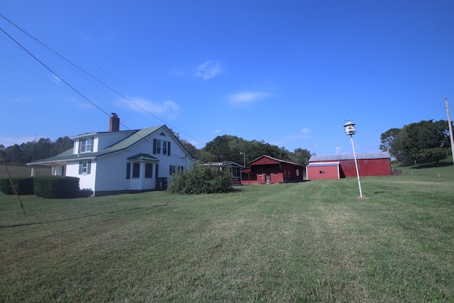
[[[232,184],[233,176],[228,168],[221,170],[218,166],[196,165],[187,172],[174,175],[167,191],[174,194],[231,192]]]

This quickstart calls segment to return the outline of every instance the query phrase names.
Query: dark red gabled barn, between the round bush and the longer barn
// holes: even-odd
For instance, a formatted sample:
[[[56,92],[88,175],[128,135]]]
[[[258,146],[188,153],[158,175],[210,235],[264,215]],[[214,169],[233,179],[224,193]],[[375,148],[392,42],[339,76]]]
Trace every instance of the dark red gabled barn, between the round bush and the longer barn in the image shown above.
[[[241,170],[241,184],[301,182],[303,170],[304,167],[297,163],[262,155],[249,162],[248,168]]]

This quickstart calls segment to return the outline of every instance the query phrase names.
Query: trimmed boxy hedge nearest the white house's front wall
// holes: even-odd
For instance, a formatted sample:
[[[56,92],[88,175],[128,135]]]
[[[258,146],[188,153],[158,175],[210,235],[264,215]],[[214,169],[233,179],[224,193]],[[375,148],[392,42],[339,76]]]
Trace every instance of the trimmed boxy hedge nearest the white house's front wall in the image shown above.
[[[35,194],[47,199],[67,199],[74,197],[79,189],[79,178],[48,176],[35,177]]]

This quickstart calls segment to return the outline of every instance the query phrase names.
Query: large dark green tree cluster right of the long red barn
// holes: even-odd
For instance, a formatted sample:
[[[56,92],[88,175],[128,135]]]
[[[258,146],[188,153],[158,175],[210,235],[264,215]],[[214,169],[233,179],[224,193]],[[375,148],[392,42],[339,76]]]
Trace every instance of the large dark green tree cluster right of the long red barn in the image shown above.
[[[380,136],[380,150],[389,152],[401,162],[434,161],[450,155],[448,121],[420,121],[402,128],[390,128]]]

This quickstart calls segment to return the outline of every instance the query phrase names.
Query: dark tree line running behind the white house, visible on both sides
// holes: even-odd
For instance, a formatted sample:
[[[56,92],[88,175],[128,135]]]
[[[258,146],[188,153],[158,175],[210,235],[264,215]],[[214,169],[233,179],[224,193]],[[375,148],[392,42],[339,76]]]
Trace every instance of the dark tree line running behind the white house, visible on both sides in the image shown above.
[[[290,152],[284,147],[279,148],[277,145],[271,145],[264,141],[246,141],[243,138],[229,135],[218,136],[213,141],[206,143],[204,148],[197,149],[188,141],[180,139],[178,133],[173,131],[172,133],[174,133],[175,137],[182,143],[192,157],[201,162],[233,161],[241,165],[243,165],[243,162],[246,162],[247,165],[248,162],[262,155],[269,155],[273,158],[306,166],[312,155],[309,150],[303,148],[297,148],[293,152]],[[22,143],[21,145],[15,144],[7,148],[4,145],[0,145],[0,150],[4,155],[5,162],[20,165],[58,155],[72,147],[73,141],[71,138],[65,136],[58,138],[56,141],[52,141],[50,138],[40,138],[38,141]]]

